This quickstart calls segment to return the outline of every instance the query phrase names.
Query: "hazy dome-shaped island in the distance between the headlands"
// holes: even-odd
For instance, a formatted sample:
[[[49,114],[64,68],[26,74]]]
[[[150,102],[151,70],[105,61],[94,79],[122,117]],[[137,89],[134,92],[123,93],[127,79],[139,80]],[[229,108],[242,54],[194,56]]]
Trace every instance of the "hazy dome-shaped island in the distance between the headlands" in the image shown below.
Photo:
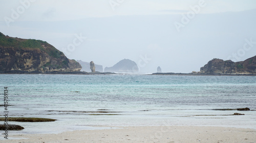
[[[113,67],[105,67],[104,72],[137,73],[139,72],[139,68],[134,61],[124,59]]]

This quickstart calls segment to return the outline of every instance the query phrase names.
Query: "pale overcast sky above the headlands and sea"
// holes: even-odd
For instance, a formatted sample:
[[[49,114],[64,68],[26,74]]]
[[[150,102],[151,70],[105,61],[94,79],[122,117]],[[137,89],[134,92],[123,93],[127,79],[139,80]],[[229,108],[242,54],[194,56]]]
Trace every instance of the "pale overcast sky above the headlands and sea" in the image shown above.
[[[0,18],[5,35],[103,68],[130,59],[140,72],[188,73],[256,55],[255,0],[1,0]]]

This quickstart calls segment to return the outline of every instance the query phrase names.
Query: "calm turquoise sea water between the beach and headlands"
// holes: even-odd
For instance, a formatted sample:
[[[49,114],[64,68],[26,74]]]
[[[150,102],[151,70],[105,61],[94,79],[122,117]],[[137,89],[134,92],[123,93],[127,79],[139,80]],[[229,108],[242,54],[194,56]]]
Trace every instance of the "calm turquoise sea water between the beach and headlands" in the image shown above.
[[[11,133],[57,133],[98,126],[195,125],[256,129],[255,76],[6,75],[9,117],[57,119],[13,123]],[[1,91],[1,90],[0,90]],[[1,115],[3,115],[4,107]],[[230,116],[234,112],[244,116]],[[10,122],[11,123],[11,122]]]

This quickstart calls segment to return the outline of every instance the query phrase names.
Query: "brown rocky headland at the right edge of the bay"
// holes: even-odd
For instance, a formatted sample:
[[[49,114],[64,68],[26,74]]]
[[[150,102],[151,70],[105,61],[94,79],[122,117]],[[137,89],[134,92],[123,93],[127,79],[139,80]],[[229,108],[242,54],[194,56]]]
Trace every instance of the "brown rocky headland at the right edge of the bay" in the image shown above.
[[[200,69],[208,74],[256,74],[256,56],[242,62],[232,62],[213,59]]]

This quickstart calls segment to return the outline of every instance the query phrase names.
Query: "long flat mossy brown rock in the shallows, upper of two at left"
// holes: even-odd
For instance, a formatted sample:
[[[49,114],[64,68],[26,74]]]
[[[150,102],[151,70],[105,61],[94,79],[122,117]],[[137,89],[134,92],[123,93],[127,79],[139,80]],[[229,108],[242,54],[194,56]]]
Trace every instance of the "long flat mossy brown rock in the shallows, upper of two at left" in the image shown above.
[[[5,118],[0,118],[0,121],[5,121]],[[48,119],[48,118],[25,118],[25,117],[10,117],[8,121],[15,121],[15,122],[53,122],[56,121],[55,119]]]

